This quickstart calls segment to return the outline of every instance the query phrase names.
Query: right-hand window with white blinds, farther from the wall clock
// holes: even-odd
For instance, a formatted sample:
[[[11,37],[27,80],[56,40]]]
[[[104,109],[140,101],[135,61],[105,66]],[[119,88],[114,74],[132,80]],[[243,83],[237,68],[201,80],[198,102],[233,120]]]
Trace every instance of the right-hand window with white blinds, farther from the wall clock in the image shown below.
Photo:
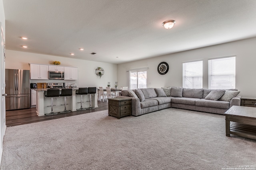
[[[209,89],[236,88],[236,57],[208,60]]]

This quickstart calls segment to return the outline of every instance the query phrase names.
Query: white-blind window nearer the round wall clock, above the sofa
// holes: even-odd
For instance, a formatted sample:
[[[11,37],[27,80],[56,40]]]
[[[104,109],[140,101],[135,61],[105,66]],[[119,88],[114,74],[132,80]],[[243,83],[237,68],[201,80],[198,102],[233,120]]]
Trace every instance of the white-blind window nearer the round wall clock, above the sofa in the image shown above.
[[[203,88],[203,61],[183,63],[183,88]]]

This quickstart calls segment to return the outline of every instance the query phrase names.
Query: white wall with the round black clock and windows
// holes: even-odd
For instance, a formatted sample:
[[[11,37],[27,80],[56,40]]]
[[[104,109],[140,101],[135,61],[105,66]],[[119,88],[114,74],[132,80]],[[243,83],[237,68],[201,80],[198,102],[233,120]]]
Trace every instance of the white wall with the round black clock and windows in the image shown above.
[[[256,74],[256,37],[118,64],[118,85],[127,85],[127,70],[148,67],[148,87],[182,87],[182,63],[203,60],[203,88],[208,88],[208,59],[231,55],[236,55],[236,88],[241,91],[240,95],[256,97],[256,78],[254,78]],[[157,72],[157,66],[162,61],[167,62],[170,67],[168,73],[165,75],[160,75]]]

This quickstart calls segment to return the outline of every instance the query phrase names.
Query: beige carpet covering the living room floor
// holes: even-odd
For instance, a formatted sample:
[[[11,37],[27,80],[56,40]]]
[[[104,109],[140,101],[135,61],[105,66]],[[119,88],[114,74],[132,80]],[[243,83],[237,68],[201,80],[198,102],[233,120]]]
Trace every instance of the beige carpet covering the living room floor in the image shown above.
[[[8,127],[1,170],[222,170],[256,165],[256,140],[225,136],[225,116],[169,108],[99,111]]]

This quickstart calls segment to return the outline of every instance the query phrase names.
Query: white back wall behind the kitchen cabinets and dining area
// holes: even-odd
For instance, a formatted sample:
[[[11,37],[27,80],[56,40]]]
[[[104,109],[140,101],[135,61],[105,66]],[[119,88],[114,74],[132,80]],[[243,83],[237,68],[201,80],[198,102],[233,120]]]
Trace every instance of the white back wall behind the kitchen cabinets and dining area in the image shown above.
[[[30,82],[69,82],[76,83],[78,87],[106,87],[108,82],[114,86],[114,82],[117,81],[116,64],[6,50],[6,68],[9,69],[29,70],[28,63],[52,64],[53,61],[60,61],[61,66],[78,67],[78,80],[31,80]],[[104,69],[101,78],[95,74],[95,69],[98,67]]]

